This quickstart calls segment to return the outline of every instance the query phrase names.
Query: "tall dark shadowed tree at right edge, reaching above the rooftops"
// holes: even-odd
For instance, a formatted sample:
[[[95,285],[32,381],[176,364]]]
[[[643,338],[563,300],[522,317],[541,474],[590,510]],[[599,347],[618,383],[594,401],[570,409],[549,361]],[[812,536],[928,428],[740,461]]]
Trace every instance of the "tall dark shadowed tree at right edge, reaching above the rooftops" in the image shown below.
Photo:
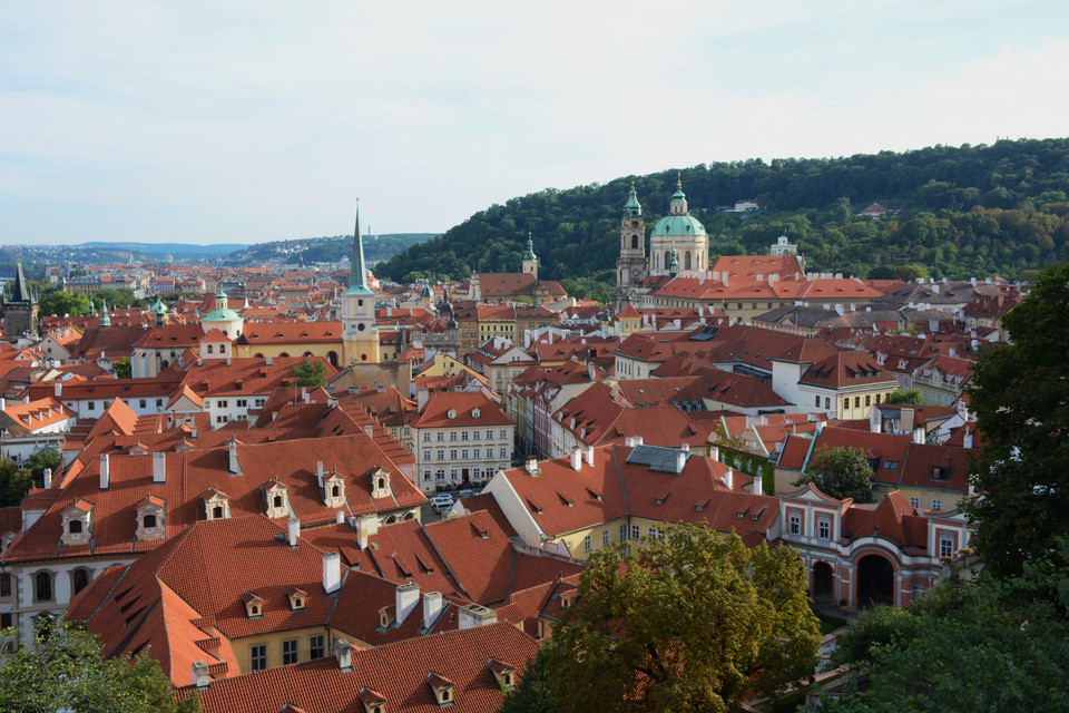
[[[984,449],[968,508],[987,566],[1012,574],[1069,533],[1069,263],[1045,270],[1002,324],[1011,344],[981,352],[969,392]]]

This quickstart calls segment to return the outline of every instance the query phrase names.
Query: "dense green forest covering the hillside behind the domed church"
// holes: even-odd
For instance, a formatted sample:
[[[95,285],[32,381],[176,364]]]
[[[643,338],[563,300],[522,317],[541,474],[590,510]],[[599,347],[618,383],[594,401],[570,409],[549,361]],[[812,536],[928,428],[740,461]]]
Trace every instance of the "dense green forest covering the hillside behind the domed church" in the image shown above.
[[[547,188],[480,211],[444,235],[379,265],[396,282],[519,271],[528,232],[539,275],[587,285],[612,282],[619,218],[635,182],[647,229],[668,209],[676,170],[567,191]],[[784,158],[681,170],[690,214],[709,233],[709,254],[767,254],[786,234],[812,271],[860,277],[1014,279],[1069,257],[1069,139],[846,158]],[[756,199],[756,213],[724,212]],[[892,215],[857,217],[880,203]]]

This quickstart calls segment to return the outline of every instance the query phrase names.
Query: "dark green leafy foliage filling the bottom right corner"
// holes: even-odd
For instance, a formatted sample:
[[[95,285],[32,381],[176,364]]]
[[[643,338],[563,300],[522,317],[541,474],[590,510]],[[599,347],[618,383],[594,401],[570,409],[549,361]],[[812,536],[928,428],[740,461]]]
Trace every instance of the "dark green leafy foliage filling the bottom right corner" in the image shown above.
[[[833,663],[862,674],[824,710],[1065,711],[1069,700],[1067,539],[1020,576],[948,582],[908,609],[862,613]],[[856,684],[856,681],[855,681]]]

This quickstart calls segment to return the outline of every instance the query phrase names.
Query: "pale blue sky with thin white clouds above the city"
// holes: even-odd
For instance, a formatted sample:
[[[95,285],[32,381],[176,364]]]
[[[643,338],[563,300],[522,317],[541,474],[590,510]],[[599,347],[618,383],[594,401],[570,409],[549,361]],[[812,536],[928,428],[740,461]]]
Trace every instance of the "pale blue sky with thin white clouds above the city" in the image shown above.
[[[444,232],[703,163],[1069,134],[1069,3],[0,0],[0,244]]]

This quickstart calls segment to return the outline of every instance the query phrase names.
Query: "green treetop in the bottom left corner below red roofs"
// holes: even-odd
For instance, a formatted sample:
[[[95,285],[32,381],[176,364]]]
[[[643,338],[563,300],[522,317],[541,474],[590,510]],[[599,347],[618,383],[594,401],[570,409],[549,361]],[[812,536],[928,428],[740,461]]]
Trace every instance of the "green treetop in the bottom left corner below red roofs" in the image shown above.
[[[0,667],[0,710],[28,713],[193,713],[200,710],[197,695],[175,703],[170,682],[147,654],[136,658],[106,658],[96,637],[79,625],[46,619],[32,647],[20,641],[17,628],[3,629],[0,638],[19,641],[18,651]]]

